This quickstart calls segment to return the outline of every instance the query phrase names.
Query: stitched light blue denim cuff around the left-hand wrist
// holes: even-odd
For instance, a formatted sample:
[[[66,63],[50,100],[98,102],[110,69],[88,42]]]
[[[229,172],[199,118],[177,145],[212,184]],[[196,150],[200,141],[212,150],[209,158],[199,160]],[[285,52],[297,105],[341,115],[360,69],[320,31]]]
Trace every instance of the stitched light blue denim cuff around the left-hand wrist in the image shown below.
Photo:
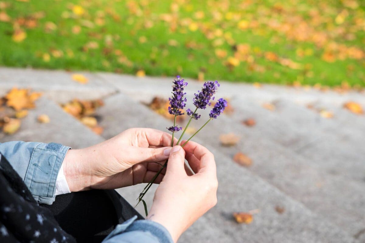
[[[33,149],[24,183],[38,203],[54,202],[58,171],[69,149],[54,142],[41,143]]]

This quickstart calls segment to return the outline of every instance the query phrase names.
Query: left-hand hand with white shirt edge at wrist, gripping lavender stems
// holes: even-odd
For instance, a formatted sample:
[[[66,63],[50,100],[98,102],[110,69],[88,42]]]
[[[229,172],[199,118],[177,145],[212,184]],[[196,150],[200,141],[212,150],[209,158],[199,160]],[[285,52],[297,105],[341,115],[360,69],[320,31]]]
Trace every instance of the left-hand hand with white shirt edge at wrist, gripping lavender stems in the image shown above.
[[[170,134],[159,130],[132,128],[100,144],[70,149],[63,162],[70,191],[149,182],[168,159],[171,139]],[[165,170],[155,183],[160,183],[164,174]]]

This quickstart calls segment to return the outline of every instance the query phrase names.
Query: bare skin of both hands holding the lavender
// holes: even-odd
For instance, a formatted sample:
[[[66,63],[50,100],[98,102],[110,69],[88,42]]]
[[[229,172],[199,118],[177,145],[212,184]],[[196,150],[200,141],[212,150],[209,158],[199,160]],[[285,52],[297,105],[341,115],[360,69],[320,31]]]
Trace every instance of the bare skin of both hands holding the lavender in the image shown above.
[[[214,156],[208,149],[192,141],[184,148],[171,148],[171,139],[170,134],[159,130],[132,128],[100,144],[69,150],[63,169],[70,191],[148,183],[168,159],[167,168],[155,181],[160,185],[147,220],[162,224],[176,242],[214,207],[218,181]]]

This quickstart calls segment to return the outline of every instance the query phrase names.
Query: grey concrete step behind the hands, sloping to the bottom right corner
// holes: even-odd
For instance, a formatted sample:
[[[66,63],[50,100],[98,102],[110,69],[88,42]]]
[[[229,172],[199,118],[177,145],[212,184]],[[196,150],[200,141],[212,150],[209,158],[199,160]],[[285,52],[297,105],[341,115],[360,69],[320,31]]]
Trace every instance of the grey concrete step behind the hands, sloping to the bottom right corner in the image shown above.
[[[131,127],[141,126],[165,130],[169,125],[169,121],[123,94],[105,99],[105,106],[98,110],[98,114],[104,118],[101,125],[105,127],[103,133],[105,139]],[[216,124],[219,123],[216,122]],[[204,134],[213,134],[211,130],[212,128],[205,130]],[[222,129],[219,130],[219,132],[222,131]],[[215,135],[218,136],[217,133]],[[198,138],[197,141],[199,141]],[[230,157],[221,153],[222,149],[217,149],[218,146],[212,146],[205,138],[200,141],[204,141],[202,143],[215,154],[219,202],[182,236],[181,242],[354,241],[337,226],[323,220],[303,204],[235,164]],[[260,147],[261,144],[257,143],[257,146]],[[141,190],[143,185],[135,188],[123,188],[120,192],[128,201],[134,203],[139,193],[137,189]],[[147,197],[149,206],[152,194],[150,192]],[[277,205],[285,208],[282,215],[275,211],[274,208]],[[250,225],[239,225],[232,219],[233,212],[252,209],[260,209],[260,213],[255,215],[254,222]],[[143,212],[142,207],[139,210]]]

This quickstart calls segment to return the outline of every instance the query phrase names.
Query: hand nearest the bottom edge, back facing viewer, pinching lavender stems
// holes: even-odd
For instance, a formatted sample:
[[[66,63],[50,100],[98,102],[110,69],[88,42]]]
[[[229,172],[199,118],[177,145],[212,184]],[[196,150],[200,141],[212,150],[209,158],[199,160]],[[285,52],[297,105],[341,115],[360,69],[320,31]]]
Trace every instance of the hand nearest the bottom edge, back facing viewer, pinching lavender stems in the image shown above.
[[[185,172],[184,158],[195,175],[188,176]],[[189,226],[215,206],[217,188],[214,156],[208,149],[192,141],[184,149],[174,146],[147,219],[162,224],[176,242]]]

